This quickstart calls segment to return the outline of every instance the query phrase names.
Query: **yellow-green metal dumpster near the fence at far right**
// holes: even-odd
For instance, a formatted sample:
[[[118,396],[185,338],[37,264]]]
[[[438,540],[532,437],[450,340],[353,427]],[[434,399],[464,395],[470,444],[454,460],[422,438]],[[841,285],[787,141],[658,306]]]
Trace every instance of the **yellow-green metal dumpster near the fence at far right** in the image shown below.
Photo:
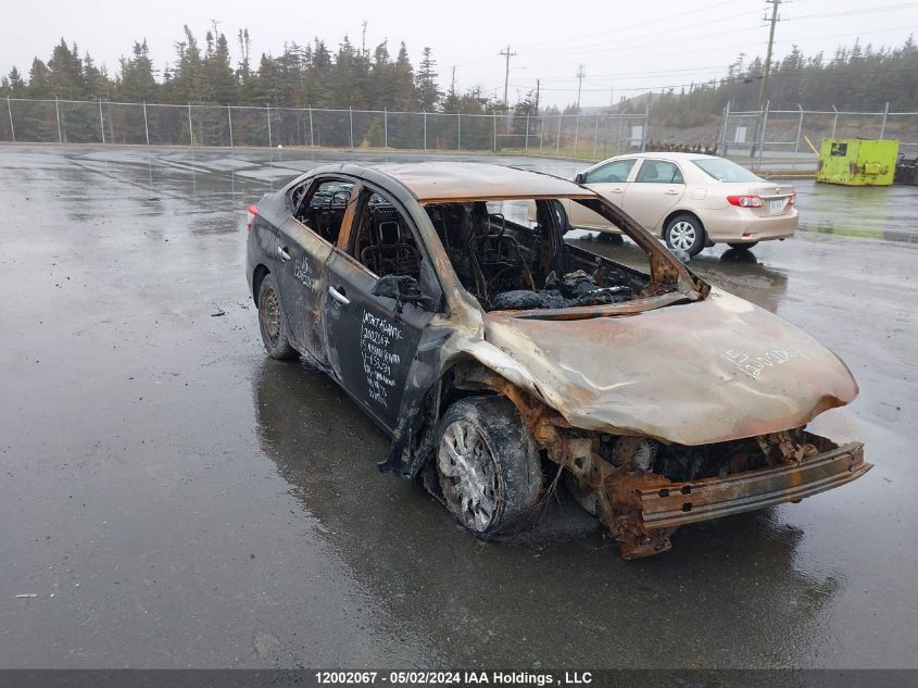
[[[847,186],[890,186],[897,154],[896,139],[822,139],[816,180]]]

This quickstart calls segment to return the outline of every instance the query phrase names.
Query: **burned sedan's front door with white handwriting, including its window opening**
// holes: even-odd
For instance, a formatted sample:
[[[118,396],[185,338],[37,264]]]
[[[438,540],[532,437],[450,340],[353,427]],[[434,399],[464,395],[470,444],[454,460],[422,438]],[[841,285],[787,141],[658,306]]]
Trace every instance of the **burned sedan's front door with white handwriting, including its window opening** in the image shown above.
[[[419,278],[432,303],[441,301],[442,292],[435,292],[439,285],[433,289],[420,279],[420,261],[427,258],[408,214],[378,189],[364,186],[355,193],[355,210],[345,215],[347,228],[326,271],[328,360],[341,386],[392,431],[408,371],[433,313],[410,303],[399,313],[395,300],[374,296],[374,287],[383,274],[397,274]]]

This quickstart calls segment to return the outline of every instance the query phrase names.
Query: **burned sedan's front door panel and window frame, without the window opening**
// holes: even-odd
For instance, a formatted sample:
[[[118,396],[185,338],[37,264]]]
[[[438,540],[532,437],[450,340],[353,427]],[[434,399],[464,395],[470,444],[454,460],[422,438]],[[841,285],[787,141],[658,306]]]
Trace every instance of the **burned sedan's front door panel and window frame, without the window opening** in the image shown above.
[[[338,243],[326,266],[323,332],[332,377],[380,428],[392,435],[399,424],[408,374],[424,333],[430,321],[444,311],[444,290],[423,234],[407,209],[394,193],[380,185],[364,179],[353,180],[355,184]],[[381,192],[395,207],[412,233],[422,254],[422,292],[425,293],[425,285],[436,291],[427,295],[433,301],[432,310],[405,303],[402,313],[397,314],[394,299],[373,295],[373,288],[380,276],[351,255],[364,203],[368,202],[374,192]],[[366,201],[362,201],[364,193]],[[344,288],[343,292],[341,287]],[[379,336],[381,339],[372,340]],[[344,341],[339,341],[341,337]],[[353,347],[348,345],[348,340],[356,342],[357,355],[353,354]],[[397,363],[391,358],[393,355],[398,356]],[[391,371],[385,370],[387,364],[392,366]],[[381,366],[382,370],[374,366]],[[376,383],[370,381],[372,375]],[[380,379],[380,376],[385,379]],[[387,379],[392,384],[387,384]],[[375,395],[372,396],[370,390]]]

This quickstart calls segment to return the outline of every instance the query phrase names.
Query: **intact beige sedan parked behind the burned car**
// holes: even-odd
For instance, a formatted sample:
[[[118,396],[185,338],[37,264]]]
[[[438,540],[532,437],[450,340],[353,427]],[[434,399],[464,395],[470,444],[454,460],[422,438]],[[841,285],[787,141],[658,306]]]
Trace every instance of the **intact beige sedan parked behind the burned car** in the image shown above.
[[[634,153],[609,158],[578,174],[586,186],[625,210],[670,249],[695,255],[706,246],[752,248],[785,239],[797,226],[796,193],[725,158],[696,153]],[[579,203],[566,203],[571,228],[620,234]]]

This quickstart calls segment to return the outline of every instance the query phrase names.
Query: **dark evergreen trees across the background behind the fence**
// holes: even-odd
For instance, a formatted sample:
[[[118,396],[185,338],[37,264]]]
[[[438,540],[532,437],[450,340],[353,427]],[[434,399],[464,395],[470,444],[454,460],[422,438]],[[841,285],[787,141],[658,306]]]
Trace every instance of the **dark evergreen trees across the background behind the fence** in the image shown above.
[[[127,143],[440,148],[456,147],[461,138],[463,148],[488,149],[496,138],[493,124],[485,118],[463,117],[460,123],[437,114],[422,122],[418,114],[398,114],[504,112],[503,103],[477,89],[443,89],[429,47],[413,63],[404,42],[398,48],[388,41],[368,48],[344,36],[337,48],[330,48],[315,38],[305,45],[285,43],[280,54],[257,58],[252,55],[251,42],[248,29],[230,41],[216,25],[200,42],[185,26],[174,55],[162,68],[141,40],[110,72],[89,52],[62,38],[47,60],[33,60],[27,74],[14,67],[0,77],[0,97],[46,101],[11,104],[22,140],[98,142],[101,129],[106,140]],[[720,78],[651,91],[623,100],[612,110],[643,113],[650,104],[654,138],[712,146],[728,101],[733,111],[758,108],[763,73],[759,58],[747,64],[740,59]],[[772,110],[795,110],[800,104],[807,110],[834,105],[843,111],[877,112],[889,102],[893,111],[918,111],[918,47],[911,37],[897,48],[855,42],[839,48],[831,58],[807,57],[794,47],[771,65],[768,97]],[[100,102],[108,104],[103,108]],[[165,107],[116,104],[143,102]],[[225,107],[230,103],[236,107],[232,113]],[[199,105],[193,117],[189,104]],[[315,116],[305,114],[305,109],[316,110]],[[349,109],[378,113],[351,116]],[[546,108],[537,92],[526,93],[511,104],[516,116],[507,122],[499,145],[521,146],[532,136],[532,129],[526,133],[527,115],[559,112],[579,110]],[[7,128],[8,122],[0,118],[0,139],[12,140]],[[614,136],[599,134],[604,141]],[[565,145],[569,143],[565,138]]]

